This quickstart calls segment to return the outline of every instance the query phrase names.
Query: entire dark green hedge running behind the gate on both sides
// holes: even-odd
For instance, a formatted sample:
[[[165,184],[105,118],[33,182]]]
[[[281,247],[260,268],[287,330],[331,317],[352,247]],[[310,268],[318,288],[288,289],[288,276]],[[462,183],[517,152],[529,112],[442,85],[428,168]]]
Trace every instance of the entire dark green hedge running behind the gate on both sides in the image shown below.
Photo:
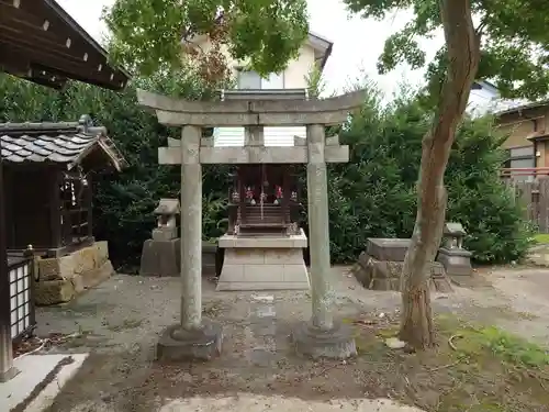
[[[108,127],[130,162],[119,175],[96,178],[94,232],[108,240],[121,270],[138,264],[143,242],[155,226],[152,211],[161,197],[179,196],[177,167],[158,167],[157,148],[177,130],[159,125],[136,104],[135,88],[187,99],[208,99],[212,89],[192,74],[158,75],[137,80],[116,93],[81,83],[61,91],[0,75],[0,121],[75,121],[88,113]],[[413,100],[380,109],[372,97],[361,112],[339,131],[350,145],[350,163],[329,167],[332,260],[354,261],[367,237],[407,237],[415,219],[415,181],[421,141],[429,113]],[[490,120],[466,120],[459,130],[446,183],[448,220],[470,233],[467,246],[482,263],[504,263],[524,256],[529,231],[518,207],[500,182],[501,136]],[[227,166],[204,168],[204,237],[220,236],[226,225]],[[301,180],[304,187],[304,169]],[[303,190],[306,196],[306,190]],[[304,202],[306,204],[306,201]],[[306,210],[302,215],[306,230]]]

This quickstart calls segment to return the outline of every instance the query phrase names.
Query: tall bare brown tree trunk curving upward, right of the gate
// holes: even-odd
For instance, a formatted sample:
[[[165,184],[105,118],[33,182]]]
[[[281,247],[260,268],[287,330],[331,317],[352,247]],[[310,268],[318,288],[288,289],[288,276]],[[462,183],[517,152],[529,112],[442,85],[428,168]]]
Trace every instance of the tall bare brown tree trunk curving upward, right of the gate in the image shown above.
[[[435,344],[430,308],[430,264],[442,237],[447,194],[444,174],[456,129],[466,110],[480,60],[480,35],[470,0],[439,0],[448,68],[430,131],[423,138],[417,215],[401,278],[400,338],[415,349]]]

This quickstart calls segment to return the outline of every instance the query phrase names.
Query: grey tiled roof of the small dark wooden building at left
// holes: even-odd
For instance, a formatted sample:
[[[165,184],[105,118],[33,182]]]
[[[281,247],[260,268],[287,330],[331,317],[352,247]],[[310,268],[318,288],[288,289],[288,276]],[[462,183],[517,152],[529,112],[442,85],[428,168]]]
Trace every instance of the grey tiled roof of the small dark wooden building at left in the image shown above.
[[[0,123],[1,156],[5,163],[81,164],[92,153],[100,153],[117,171],[126,160],[104,127],[91,126],[88,115],[74,123]]]

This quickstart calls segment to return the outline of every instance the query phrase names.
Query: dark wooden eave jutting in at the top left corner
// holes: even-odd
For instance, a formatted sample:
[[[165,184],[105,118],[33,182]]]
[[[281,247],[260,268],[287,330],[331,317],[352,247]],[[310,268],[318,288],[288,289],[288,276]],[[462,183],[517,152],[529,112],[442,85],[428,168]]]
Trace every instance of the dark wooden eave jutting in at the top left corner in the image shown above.
[[[130,75],[55,0],[0,0],[0,71],[56,89],[67,79],[120,90]]]

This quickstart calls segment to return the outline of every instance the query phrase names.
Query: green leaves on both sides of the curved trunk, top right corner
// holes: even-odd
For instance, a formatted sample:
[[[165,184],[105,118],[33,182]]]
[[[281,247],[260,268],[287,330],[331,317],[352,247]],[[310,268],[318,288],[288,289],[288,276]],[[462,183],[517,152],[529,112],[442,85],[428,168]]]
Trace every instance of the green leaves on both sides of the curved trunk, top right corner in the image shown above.
[[[462,1],[462,0],[459,0]],[[549,92],[549,13],[547,0],[470,0],[481,40],[478,79],[493,80],[505,98],[538,99]],[[410,9],[413,19],[385,41],[380,73],[400,63],[413,68],[427,64],[418,40],[433,37],[442,27],[439,0],[344,0],[349,11],[363,18],[384,19],[396,9]],[[427,66],[430,91],[438,92],[446,75],[442,47]]]

